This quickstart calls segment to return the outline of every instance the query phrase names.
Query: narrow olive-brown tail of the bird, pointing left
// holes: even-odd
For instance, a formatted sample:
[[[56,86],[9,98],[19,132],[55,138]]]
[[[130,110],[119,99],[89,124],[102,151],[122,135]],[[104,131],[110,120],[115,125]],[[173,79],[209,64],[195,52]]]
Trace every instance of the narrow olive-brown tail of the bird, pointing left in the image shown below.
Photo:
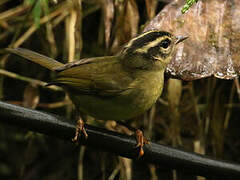
[[[26,58],[32,62],[35,62],[49,70],[54,71],[55,69],[63,66],[64,64],[49,58],[47,56],[44,56],[42,54],[38,54],[36,52],[27,50],[27,49],[23,49],[23,48],[6,48],[7,52],[16,54],[18,56],[21,56],[23,58]]]

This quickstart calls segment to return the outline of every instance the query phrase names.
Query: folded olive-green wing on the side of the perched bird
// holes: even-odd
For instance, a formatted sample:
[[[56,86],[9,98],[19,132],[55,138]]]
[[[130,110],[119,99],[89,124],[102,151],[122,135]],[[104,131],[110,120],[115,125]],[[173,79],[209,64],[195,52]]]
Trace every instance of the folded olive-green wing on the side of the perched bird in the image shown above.
[[[119,63],[118,57],[82,59],[55,69],[51,84],[67,88],[76,94],[116,96],[129,89],[132,78]]]

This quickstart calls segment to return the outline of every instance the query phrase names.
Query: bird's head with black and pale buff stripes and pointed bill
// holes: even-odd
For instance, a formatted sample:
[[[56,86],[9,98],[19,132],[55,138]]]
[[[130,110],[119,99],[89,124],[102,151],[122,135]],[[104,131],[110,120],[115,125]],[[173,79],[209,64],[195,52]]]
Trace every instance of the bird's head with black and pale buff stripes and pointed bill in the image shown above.
[[[120,53],[123,64],[135,69],[163,69],[172,59],[175,46],[187,39],[166,31],[151,30],[130,40]]]

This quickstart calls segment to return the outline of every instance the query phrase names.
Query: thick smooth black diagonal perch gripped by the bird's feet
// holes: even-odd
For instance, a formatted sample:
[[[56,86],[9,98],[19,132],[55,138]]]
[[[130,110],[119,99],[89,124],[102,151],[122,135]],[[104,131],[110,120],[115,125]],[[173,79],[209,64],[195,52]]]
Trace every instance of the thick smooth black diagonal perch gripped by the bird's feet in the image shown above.
[[[71,141],[75,125],[65,118],[36,110],[11,105],[0,101],[0,121]],[[109,151],[120,156],[136,159],[138,150],[134,148],[133,137],[86,125],[88,139],[80,139],[81,144]],[[145,154],[138,161],[162,165],[202,176],[223,178],[240,177],[240,165],[214,160],[209,157],[170,148],[151,142],[144,147]]]

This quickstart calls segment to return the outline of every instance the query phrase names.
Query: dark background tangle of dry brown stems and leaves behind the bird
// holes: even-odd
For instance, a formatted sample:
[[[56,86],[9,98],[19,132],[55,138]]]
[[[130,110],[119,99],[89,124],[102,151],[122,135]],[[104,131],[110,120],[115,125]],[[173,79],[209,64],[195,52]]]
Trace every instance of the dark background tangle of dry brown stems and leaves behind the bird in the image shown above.
[[[166,4],[154,0],[3,0],[0,48],[21,46],[62,62],[114,54]],[[0,77],[1,100],[74,118],[74,107],[65,93],[44,87],[54,74],[6,54],[0,55],[0,66],[0,74],[5,75]],[[144,129],[152,141],[239,163],[239,107],[233,81],[166,79],[159,101],[131,126]],[[114,121],[87,120],[126,131]],[[3,124],[0,178],[202,179]]]

